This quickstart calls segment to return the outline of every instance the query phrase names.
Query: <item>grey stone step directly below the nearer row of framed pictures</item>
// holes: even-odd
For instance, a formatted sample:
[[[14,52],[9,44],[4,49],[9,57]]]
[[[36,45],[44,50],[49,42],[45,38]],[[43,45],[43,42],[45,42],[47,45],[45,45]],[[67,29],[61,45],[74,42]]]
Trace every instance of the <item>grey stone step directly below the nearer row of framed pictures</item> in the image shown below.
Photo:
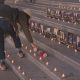
[[[80,71],[80,52],[75,53],[74,50],[67,49],[67,46],[59,45],[54,41],[51,42],[51,40],[48,40],[39,34],[32,33],[32,35],[39,47],[44,48],[44,50],[47,49],[50,54]]]

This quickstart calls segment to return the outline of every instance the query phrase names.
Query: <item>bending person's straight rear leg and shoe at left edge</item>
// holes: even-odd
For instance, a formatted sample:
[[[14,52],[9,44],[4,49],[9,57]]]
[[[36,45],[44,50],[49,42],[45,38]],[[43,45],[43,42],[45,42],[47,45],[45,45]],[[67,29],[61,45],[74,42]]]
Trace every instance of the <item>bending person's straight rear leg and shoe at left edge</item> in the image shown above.
[[[9,31],[10,23],[4,18],[0,18],[0,69],[6,70],[5,51],[4,51],[4,34]]]

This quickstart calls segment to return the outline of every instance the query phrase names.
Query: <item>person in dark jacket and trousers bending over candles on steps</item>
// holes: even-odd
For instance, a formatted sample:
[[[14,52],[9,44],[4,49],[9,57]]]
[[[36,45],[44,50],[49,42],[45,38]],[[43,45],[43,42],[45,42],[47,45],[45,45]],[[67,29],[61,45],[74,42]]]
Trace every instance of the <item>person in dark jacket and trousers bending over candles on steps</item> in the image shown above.
[[[25,11],[25,10],[24,10]],[[4,52],[4,34],[9,33],[13,38],[15,47],[18,49],[19,57],[24,57],[24,53],[21,48],[21,41],[18,36],[18,25],[20,24],[25,36],[31,43],[33,50],[37,50],[37,46],[32,39],[29,31],[29,10],[26,13],[18,8],[12,8],[8,5],[0,4],[0,69],[6,70],[5,64],[5,52]]]

